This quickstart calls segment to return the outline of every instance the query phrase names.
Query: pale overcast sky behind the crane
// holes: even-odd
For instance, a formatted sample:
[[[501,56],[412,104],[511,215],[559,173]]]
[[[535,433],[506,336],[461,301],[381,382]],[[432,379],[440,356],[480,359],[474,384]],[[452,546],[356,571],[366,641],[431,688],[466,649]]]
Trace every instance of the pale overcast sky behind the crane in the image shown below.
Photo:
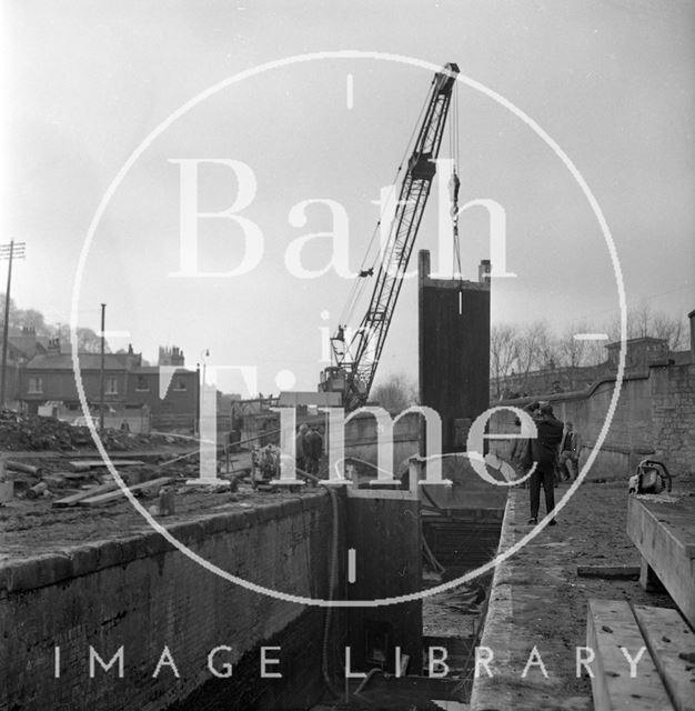
[[[618,290],[608,243],[575,178],[475,82],[535,121],[576,167],[612,233],[628,307],[647,300],[678,318],[695,308],[691,2],[4,0],[1,7],[1,241],[27,243],[12,297],[50,322],[69,322],[78,289],[79,326],[97,330],[107,303],[107,331],[123,332],[109,338],[113,349],[130,342],[155,360],[159,346],[175,344],[189,367],[204,359],[211,368],[253,368],[253,387],[238,375],[221,383],[244,394],[278,392],[276,374],[288,370],[295,389],[314,390],[326,364],[321,329],[340,322],[355,286],[349,273],[376,226],[375,201],[393,182],[432,67],[446,62],[470,80],[455,92],[460,202],[494,200],[506,216],[506,267],[516,277],[493,279],[493,323],[542,319],[558,331],[581,322],[601,331],[617,312]],[[334,56],[345,50],[372,57]],[[333,57],[296,61],[318,52]],[[233,79],[242,72],[252,76]],[[447,131],[441,158],[453,148]],[[137,150],[88,243],[100,203]],[[193,159],[194,193],[190,183],[182,188]],[[245,194],[249,171],[254,189]],[[439,190],[447,193],[445,181],[434,187],[415,243],[433,261],[437,237],[450,229],[437,211]],[[239,217],[197,220],[191,194],[199,212],[235,207]],[[182,224],[191,219],[198,271],[218,276],[191,276],[181,252]],[[303,269],[324,270],[338,242],[314,237],[301,248],[301,240],[336,231],[348,246],[345,273],[305,278],[289,267],[299,251]],[[479,262],[490,258],[485,211],[467,210],[460,231],[463,274],[475,279]],[[258,263],[230,276],[259,234]],[[189,276],[180,274],[182,264]],[[414,377],[416,352],[411,279],[377,378]]]

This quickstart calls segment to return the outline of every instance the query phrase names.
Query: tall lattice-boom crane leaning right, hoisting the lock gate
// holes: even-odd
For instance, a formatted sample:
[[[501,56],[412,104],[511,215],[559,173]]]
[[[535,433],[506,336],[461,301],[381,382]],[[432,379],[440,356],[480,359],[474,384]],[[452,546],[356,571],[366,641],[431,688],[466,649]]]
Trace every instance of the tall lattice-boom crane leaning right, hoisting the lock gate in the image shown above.
[[[342,392],[342,404],[349,411],[366,402],[374,382],[379,359],[403,283],[403,274],[407,270],[434,180],[434,161],[440,152],[457,74],[459,67],[447,63],[435,73],[430,87],[426,108],[407,161],[407,170],[401,182],[395,216],[382,251],[370,303],[360,327],[350,336],[345,332],[345,327],[339,326],[331,338],[334,364],[321,374],[319,389]],[[360,272],[362,278],[370,276],[373,276],[373,269]]]

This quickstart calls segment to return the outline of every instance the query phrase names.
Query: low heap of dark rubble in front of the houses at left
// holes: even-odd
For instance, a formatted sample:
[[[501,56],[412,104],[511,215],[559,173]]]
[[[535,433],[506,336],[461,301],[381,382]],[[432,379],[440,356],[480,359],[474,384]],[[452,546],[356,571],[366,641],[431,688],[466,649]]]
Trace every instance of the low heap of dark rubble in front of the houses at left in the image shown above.
[[[132,434],[107,430],[101,438],[109,450],[129,450],[165,441],[161,435]],[[0,449],[71,451],[94,447],[87,427],[73,427],[62,420],[38,414],[0,410]]]

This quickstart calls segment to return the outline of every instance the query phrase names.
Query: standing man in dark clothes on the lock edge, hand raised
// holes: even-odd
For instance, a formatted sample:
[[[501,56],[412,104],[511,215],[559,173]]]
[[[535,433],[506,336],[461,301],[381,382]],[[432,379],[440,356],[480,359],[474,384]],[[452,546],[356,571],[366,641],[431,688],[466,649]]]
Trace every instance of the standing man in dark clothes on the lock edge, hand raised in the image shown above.
[[[531,468],[536,462],[536,468],[531,474],[531,518],[528,523],[538,522],[538,507],[541,504],[541,484],[545,491],[545,509],[550,513],[555,508],[555,464],[557,462],[557,449],[562,441],[563,424],[553,415],[550,404],[541,405],[541,417],[536,420],[538,437],[531,441],[531,458],[527,462]],[[552,519],[550,525],[555,525]]]

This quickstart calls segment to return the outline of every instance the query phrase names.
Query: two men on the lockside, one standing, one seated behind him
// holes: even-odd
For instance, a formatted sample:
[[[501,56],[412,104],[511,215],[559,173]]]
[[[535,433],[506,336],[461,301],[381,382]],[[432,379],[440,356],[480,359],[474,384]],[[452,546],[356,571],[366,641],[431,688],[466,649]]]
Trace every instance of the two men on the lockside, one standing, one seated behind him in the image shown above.
[[[520,440],[517,459],[524,472],[535,462],[530,480],[531,518],[530,524],[538,522],[541,487],[545,493],[545,509],[550,513],[555,508],[555,487],[561,481],[573,481],[578,474],[580,435],[572,422],[563,423],[553,413],[550,403],[532,402],[524,408],[534,419],[537,437]],[[548,525],[555,525],[555,519]]]

